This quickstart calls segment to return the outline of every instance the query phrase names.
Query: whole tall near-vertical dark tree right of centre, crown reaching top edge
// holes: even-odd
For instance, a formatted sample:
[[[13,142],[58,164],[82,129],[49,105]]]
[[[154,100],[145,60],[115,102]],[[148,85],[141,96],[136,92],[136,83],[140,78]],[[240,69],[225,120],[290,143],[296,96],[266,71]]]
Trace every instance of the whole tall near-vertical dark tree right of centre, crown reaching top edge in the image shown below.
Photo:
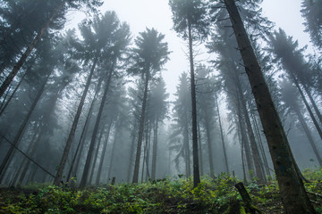
[[[193,148],[193,185],[200,183],[198,157],[198,128],[195,74],[192,42],[203,40],[208,36],[208,20],[206,3],[203,0],[170,0],[173,12],[174,30],[189,42],[189,61],[191,73],[191,117],[192,117],[192,148]]]

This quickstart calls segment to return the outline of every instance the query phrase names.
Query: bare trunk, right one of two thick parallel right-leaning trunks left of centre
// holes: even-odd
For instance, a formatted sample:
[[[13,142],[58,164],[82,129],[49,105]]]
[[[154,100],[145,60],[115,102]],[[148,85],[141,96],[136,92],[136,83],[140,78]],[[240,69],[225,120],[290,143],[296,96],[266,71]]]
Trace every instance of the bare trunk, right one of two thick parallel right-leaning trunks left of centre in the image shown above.
[[[84,167],[84,171],[80,180],[80,188],[85,187],[85,185],[87,184],[88,181],[88,177],[89,177],[89,166],[90,166],[90,162],[92,161],[92,155],[93,155],[93,151],[94,151],[94,146],[96,143],[96,139],[97,139],[97,131],[98,131],[98,126],[100,123],[100,119],[104,110],[104,105],[106,103],[106,97],[107,97],[107,92],[110,86],[110,82],[112,79],[112,74],[113,74],[114,69],[112,68],[108,74],[108,77],[106,79],[106,86],[104,89],[104,94],[102,97],[102,102],[100,103],[99,106],[99,110],[97,113],[97,120],[95,122],[95,126],[94,126],[94,130],[93,130],[93,134],[90,140],[90,144],[89,144],[89,152],[87,154],[87,158],[86,158],[86,162],[85,162],[85,167]]]

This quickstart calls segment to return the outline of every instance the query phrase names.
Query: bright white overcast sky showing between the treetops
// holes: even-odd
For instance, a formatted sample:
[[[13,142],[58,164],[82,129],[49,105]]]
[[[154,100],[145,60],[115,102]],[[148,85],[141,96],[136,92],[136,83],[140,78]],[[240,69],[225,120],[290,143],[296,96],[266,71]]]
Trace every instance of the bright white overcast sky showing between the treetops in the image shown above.
[[[262,8],[264,16],[275,22],[276,29],[282,28],[288,36],[298,39],[301,47],[309,45],[309,36],[303,32],[301,0],[264,0]],[[146,28],[155,28],[165,34],[165,41],[172,53],[162,73],[167,90],[173,99],[178,78],[182,71],[189,70],[189,62],[185,56],[187,51],[185,43],[172,30],[172,12],[168,6],[168,0],[106,0],[100,12],[104,13],[108,10],[115,11],[121,21],[126,21],[130,25],[133,37],[137,37],[139,32]],[[75,23],[83,18],[83,14],[73,12],[69,16],[71,22],[68,27],[75,26]],[[198,60],[206,62],[208,57],[202,55]]]

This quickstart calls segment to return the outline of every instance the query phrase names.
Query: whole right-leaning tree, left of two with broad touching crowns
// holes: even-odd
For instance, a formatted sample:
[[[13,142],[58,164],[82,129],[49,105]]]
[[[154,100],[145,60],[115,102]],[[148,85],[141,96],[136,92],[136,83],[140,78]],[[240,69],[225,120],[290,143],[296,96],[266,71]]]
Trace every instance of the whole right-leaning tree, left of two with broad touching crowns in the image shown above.
[[[106,14],[106,17],[108,17],[108,14],[110,14],[111,17],[115,17],[114,12],[107,12]],[[85,68],[85,65],[89,62],[92,62],[92,64],[89,69],[89,76],[82,92],[78,109],[72,121],[72,128],[64,147],[64,153],[56,173],[54,182],[55,185],[59,185],[59,183],[61,182],[64,166],[67,161],[68,153],[71,149],[72,141],[75,136],[76,128],[80,119],[80,113],[85,103],[86,95],[89,92],[89,86],[94,74],[94,70],[96,70],[97,64],[99,64],[99,62],[102,62],[102,59],[106,57],[106,53],[113,53],[113,51],[115,51],[115,53],[117,52],[117,49],[114,50],[114,45],[117,45],[110,45],[110,39],[112,36],[120,36],[118,35],[118,33],[116,33],[117,31],[115,32],[113,19],[106,19],[106,21],[103,21],[102,23],[98,22],[98,17],[96,19],[96,21],[89,21],[89,23],[86,20],[82,21],[82,23],[80,24],[80,34],[83,37],[83,40],[80,42],[73,42],[72,44],[72,57],[74,57],[74,59],[76,60],[83,61]],[[101,26],[100,24],[102,24],[103,26]]]

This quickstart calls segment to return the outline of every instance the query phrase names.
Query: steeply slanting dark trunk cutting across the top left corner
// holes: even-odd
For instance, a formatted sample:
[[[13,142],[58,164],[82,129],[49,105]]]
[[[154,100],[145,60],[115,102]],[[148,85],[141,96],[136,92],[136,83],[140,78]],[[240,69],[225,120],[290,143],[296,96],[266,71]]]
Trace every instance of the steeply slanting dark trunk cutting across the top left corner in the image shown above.
[[[13,81],[13,78],[17,75],[18,71],[21,70],[21,67],[24,62],[26,62],[27,57],[30,55],[32,50],[35,48],[35,46],[40,41],[40,38],[44,35],[44,33],[47,31],[50,23],[55,19],[55,16],[57,13],[63,8],[64,1],[62,1],[61,4],[59,4],[56,8],[53,14],[50,16],[48,21],[45,23],[45,25],[40,29],[37,36],[34,38],[34,40],[31,42],[31,44],[27,47],[26,51],[22,53],[21,58],[19,61],[14,65],[13,70],[10,72],[7,78],[4,79],[3,84],[0,86],[0,98],[4,95],[4,92],[10,85],[10,83]]]

